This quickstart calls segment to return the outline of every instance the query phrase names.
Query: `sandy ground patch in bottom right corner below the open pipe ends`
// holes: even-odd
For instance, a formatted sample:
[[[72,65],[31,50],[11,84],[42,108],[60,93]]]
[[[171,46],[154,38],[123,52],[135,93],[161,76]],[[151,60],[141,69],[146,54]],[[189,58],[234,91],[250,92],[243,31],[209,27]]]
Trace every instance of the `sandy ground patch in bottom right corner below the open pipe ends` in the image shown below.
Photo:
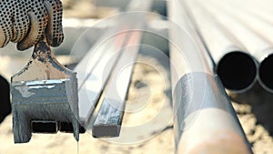
[[[243,94],[229,93],[254,153],[273,153],[273,95],[258,84]]]

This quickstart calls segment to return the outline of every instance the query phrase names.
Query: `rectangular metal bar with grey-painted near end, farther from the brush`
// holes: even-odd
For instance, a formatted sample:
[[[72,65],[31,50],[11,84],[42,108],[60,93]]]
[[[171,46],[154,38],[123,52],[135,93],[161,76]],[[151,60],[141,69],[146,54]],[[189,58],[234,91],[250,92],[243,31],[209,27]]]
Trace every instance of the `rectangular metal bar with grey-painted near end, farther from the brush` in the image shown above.
[[[92,129],[95,138],[118,137],[124,114],[126,94],[131,80],[142,32],[131,32],[105,91],[102,106]]]

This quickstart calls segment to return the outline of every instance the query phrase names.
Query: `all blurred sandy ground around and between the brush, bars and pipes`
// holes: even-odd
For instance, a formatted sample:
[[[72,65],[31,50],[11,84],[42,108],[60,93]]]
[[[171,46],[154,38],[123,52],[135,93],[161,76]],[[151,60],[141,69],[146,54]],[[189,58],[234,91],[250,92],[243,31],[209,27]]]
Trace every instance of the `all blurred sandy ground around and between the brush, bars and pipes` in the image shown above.
[[[86,4],[86,1],[83,0],[77,4],[72,0],[65,0],[64,5],[68,10],[65,12],[65,16],[98,16],[97,8]],[[87,15],[73,9],[78,8],[78,5],[85,6],[81,7],[87,11],[89,10]],[[104,15],[108,15],[108,13],[102,16]],[[162,63],[162,59],[144,53],[138,56],[138,60],[147,62],[148,65],[144,63],[136,64],[129,87],[124,128],[121,130],[120,138],[111,140],[93,139],[92,135],[87,132],[80,136],[77,143],[72,134],[34,134],[29,143],[14,144],[12,117],[8,116],[0,124],[0,154],[174,153],[168,66]],[[5,69],[7,72],[11,72],[8,67],[15,59],[2,57],[0,61],[1,70]],[[272,154],[273,96],[259,86],[253,87],[247,93],[229,93],[229,96],[254,153]]]

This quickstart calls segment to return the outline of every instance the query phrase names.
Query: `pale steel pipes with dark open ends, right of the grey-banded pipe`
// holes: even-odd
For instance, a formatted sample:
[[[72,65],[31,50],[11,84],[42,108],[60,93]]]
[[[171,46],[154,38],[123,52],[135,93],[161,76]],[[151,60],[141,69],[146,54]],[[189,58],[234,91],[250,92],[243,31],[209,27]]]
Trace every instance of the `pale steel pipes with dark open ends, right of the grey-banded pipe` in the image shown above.
[[[184,0],[183,3],[223,85],[235,92],[245,92],[258,80],[261,87],[272,93],[272,2]]]

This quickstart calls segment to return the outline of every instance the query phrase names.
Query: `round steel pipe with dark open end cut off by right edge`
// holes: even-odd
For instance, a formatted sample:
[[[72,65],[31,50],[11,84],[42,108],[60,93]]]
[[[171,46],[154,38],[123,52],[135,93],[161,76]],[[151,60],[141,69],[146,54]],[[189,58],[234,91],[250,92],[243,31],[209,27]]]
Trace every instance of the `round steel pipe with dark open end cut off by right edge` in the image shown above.
[[[268,92],[273,93],[273,78],[268,69],[268,67],[273,67],[273,58],[271,58],[273,56],[271,40],[273,27],[263,19],[249,15],[251,12],[244,13],[240,7],[222,4],[214,0],[210,0],[210,2],[210,5],[203,3],[204,7],[207,7],[207,11],[214,15],[218,22],[225,25],[227,31],[236,36],[248,48],[251,55],[258,60],[259,84]],[[202,2],[200,1],[200,3]],[[257,27],[259,27],[258,30]]]

